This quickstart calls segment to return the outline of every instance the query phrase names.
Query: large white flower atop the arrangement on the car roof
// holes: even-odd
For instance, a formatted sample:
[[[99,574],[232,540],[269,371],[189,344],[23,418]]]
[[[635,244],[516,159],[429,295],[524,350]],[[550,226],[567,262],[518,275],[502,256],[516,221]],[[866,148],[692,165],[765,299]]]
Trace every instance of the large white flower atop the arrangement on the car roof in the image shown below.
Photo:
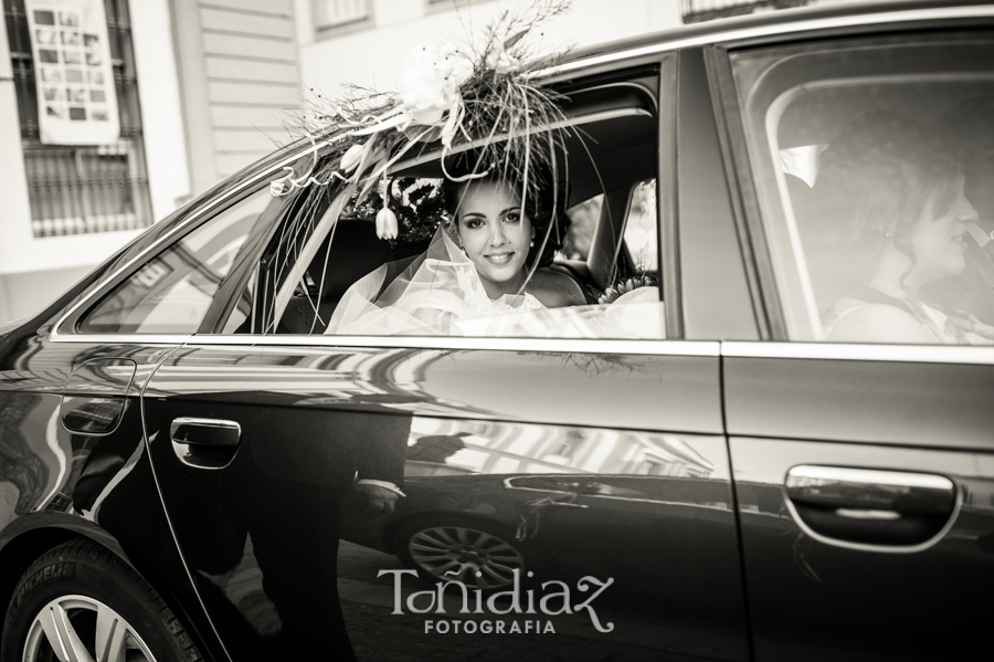
[[[417,124],[437,124],[459,99],[473,63],[448,44],[414,46],[401,76],[404,109]]]

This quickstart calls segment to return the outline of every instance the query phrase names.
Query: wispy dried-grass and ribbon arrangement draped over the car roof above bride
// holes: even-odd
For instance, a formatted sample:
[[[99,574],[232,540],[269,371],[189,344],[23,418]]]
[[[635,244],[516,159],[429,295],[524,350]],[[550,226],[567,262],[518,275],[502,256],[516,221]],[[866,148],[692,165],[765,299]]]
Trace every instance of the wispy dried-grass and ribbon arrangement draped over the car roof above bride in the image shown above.
[[[271,272],[273,282],[264,285],[274,292],[281,286],[306,238],[315,231],[322,210],[349,187],[358,193],[347,207],[362,209],[366,216],[379,206],[395,212],[399,242],[430,237],[445,217],[438,197],[424,191],[416,196],[383,197],[380,182],[402,156],[437,149],[440,140],[443,171],[451,179],[486,172],[518,181],[522,204],[550,186],[553,197],[565,195],[558,188],[557,159],[558,155],[565,156],[565,138],[575,129],[562,111],[564,97],[536,85],[531,74],[554,66],[567,54],[563,51],[540,55],[537,43],[541,38],[540,27],[567,12],[569,6],[569,0],[539,0],[524,10],[503,12],[486,25],[482,42],[453,48],[453,56],[468,59],[472,73],[458,86],[456,103],[444,113],[442,120],[433,124],[412,122],[411,115],[405,114],[404,97],[394,92],[348,84],[331,98],[311,90],[304,112],[288,116],[284,124],[292,136],[309,137],[327,145],[317,153],[313,171],[286,176],[292,187],[274,182],[274,195],[286,195],[294,188],[305,190],[294,202],[298,211],[296,221],[286,225],[278,239],[277,262]],[[342,157],[350,149],[358,150],[357,146],[362,147],[358,165],[353,170],[342,171]],[[459,151],[466,156],[458,159],[448,156]],[[448,172],[446,161],[457,162],[458,171]],[[553,225],[542,237],[542,250],[550,241]],[[554,231],[558,233],[559,228]],[[556,239],[561,241],[558,235]]]

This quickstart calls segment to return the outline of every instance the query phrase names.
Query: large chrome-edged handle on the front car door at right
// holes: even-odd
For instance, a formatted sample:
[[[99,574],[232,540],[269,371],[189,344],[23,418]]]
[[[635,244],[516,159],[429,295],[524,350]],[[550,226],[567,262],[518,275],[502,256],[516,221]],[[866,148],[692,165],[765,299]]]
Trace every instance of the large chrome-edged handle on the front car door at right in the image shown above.
[[[786,503],[824,542],[908,548],[941,537],[956,511],[945,476],[803,464],[787,471]]]

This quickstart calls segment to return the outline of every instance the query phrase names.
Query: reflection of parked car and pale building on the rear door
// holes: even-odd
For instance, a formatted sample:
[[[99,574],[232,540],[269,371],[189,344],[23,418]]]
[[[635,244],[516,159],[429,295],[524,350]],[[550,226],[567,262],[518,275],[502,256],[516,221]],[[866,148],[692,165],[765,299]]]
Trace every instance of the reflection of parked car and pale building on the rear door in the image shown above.
[[[626,595],[664,581],[692,599],[707,580],[685,581],[675,555],[729,512],[721,452],[705,435],[414,417],[406,497],[387,517],[350,509],[342,537],[431,582],[495,590],[518,569],[615,577]]]

